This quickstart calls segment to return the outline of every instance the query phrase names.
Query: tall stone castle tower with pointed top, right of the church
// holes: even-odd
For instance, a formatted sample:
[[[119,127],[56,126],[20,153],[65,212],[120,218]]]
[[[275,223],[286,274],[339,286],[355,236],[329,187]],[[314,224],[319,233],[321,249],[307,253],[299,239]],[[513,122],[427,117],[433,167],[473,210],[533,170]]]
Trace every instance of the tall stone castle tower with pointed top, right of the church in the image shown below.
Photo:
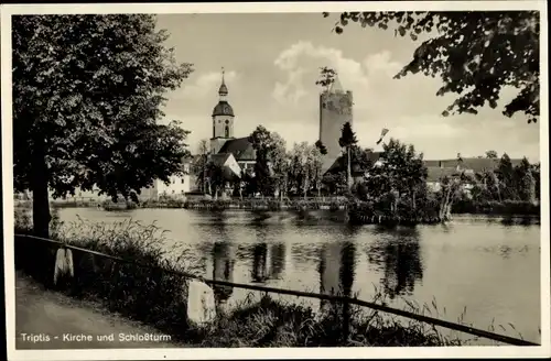
[[[331,88],[320,95],[320,140],[327,149],[322,172],[341,155],[338,139],[346,122],[353,124],[353,95],[343,91],[337,76]]]

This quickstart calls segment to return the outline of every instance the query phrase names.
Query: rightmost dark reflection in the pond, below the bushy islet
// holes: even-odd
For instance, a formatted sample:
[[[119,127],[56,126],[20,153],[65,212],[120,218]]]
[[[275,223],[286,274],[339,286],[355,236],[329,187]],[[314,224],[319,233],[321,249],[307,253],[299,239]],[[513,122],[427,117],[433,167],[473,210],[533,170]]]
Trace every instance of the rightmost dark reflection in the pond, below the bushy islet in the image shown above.
[[[368,261],[382,269],[381,286],[391,298],[411,295],[423,278],[419,231],[415,228],[387,230],[367,248]]]

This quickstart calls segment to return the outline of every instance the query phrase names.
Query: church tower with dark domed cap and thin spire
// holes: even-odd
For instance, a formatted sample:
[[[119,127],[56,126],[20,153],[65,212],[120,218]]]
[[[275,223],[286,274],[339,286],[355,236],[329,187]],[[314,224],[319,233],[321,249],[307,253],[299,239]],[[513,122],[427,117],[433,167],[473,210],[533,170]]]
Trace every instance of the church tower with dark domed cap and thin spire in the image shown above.
[[[222,85],[218,89],[218,103],[213,110],[213,138],[210,138],[210,152],[217,154],[224,143],[234,139],[234,109],[228,103],[228,88],[222,69]]]

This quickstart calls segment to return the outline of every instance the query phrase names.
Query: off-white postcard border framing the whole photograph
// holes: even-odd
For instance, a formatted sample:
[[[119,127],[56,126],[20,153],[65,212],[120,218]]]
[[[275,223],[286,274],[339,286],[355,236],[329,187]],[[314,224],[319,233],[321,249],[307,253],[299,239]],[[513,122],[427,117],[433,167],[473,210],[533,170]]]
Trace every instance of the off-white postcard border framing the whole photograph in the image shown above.
[[[96,3],[26,4],[1,7],[2,68],[2,192],[4,234],[4,284],[8,358],[10,360],[186,360],[186,359],[348,359],[348,358],[534,358],[550,357],[550,232],[549,204],[541,203],[541,347],[447,347],[447,348],[281,348],[281,349],[87,349],[15,350],[13,266],[13,161],[11,117],[11,15],[54,13],[259,13],[343,12],[399,10],[539,10],[540,22],[540,160],[549,174],[548,17],[545,1],[378,1],[378,2],[278,2],[278,3]],[[541,177],[541,199],[549,199],[549,179]]]

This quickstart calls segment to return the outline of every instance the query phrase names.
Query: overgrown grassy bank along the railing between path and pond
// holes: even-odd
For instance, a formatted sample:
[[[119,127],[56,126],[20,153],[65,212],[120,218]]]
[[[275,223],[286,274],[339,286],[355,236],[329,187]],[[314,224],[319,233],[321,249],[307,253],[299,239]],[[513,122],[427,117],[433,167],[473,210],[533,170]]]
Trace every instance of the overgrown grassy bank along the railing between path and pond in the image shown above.
[[[58,225],[60,226],[60,225]],[[321,347],[321,346],[445,346],[460,344],[429,325],[383,317],[356,307],[332,305],[317,313],[311,307],[263,297],[248,297],[208,327],[187,320],[185,280],[171,271],[193,272],[177,249],[162,251],[164,233],[155,226],[123,221],[109,227],[79,221],[61,226],[55,238],[87,249],[119,255],[133,263],[116,263],[74,252],[75,280],[61,291],[100,302],[114,313],[140,320],[173,340],[204,347]],[[18,233],[30,232],[24,219]],[[88,236],[87,236],[88,234]],[[177,254],[177,256],[175,256]],[[40,262],[37,262],[40,260]],[[42,284],[51,286],[54,250],[43,242],[15,240],[15,263]],[[177,264],[177,265],[176,265]],[[252,295],[252,294],[251,294]],[[260,295],[257,295],[260,296]],[[380,295],[376,296],[380,297]],[[345,322],[346,320],[346,322]],[[346,328],[343,325],[348,325]],[[344,339],[348,329],[348,336]]]

